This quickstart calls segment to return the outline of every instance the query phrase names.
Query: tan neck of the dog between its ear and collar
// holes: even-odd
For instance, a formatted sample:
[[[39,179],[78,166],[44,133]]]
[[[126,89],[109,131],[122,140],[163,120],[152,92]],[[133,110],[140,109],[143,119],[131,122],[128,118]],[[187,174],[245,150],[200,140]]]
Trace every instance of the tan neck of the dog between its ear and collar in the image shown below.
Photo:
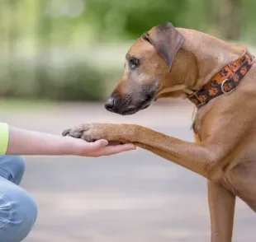
[[[192,52],[197,59],[198,77],[194,90],[200,90],[222,67],[244,52],[244,46],[226,43],[197,30],[177,30],[185,37],[182,49]]]

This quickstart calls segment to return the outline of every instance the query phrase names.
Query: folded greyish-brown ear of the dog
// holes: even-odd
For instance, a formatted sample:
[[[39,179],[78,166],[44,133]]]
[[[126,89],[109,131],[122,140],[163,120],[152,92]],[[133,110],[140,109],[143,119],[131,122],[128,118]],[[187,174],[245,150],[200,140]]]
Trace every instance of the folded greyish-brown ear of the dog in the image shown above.
[[[154,26],[148,33],[142,36],[154,46],[158,54],[164,58],[168,67],[172,67],[173,58],[183,44],[184,36],[178,32],[171,23]]]

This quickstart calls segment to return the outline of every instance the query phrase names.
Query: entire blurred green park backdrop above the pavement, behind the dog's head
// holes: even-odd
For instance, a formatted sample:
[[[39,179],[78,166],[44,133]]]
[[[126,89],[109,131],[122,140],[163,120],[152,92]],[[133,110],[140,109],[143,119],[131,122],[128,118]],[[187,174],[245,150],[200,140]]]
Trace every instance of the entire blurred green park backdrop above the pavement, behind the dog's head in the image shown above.
[[[152,26],[254,44],[255,0],[1,0],[0,96],[104,100]]]

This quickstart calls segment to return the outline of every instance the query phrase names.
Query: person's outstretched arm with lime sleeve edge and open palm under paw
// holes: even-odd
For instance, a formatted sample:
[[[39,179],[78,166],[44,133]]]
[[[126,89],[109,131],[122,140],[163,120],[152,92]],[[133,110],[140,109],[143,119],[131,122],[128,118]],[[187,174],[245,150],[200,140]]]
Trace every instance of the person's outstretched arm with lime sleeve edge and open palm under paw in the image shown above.
[[[107,140],[85,142],[73,137],[62,137],[16,128],[0,123],[1,155],[36,156],[109,156],[135,150],[133,144],[108,145]]]

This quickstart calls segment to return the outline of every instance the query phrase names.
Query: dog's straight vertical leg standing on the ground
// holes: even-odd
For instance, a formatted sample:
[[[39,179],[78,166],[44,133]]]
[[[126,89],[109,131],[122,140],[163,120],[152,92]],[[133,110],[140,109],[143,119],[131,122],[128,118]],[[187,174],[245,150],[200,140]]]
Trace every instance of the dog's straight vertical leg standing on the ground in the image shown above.
[[[208,180],[208,201],[211,214],[211,242],[231,242],[235,195],[220,184]]]

